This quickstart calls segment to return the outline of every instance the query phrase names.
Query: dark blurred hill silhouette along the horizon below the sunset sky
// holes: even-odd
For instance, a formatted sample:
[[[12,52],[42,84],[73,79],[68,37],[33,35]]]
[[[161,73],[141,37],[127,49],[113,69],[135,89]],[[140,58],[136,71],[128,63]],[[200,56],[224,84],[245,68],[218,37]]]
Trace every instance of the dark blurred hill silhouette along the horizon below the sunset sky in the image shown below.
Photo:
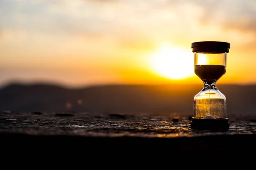
[[[11,84],[0,89],[0,110],[193,115],[202,85],[102,85],[64,88]],[[217,85],[227,97],[227,117],[254,117],[256,85]]]

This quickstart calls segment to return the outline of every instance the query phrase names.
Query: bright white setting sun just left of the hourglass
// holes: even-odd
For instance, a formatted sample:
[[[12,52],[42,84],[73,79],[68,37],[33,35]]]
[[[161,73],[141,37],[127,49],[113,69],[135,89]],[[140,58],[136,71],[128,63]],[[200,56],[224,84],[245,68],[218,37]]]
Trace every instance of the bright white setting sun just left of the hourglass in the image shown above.
[[[184,79],[194,75],[194,57],[184,48],[162,45],[151,54],[151,66],[158,74],[169,79]]]

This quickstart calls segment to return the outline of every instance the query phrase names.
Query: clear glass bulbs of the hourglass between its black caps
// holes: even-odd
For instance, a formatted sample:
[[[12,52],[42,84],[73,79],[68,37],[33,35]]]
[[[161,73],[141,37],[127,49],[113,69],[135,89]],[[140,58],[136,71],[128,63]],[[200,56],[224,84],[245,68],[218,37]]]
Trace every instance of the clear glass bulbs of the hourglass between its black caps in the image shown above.
[[[216,82],[226,73],[227,53],[194,52],[194,71],[204,88],[194,97],[194,118],[226,119],[226,97]]]

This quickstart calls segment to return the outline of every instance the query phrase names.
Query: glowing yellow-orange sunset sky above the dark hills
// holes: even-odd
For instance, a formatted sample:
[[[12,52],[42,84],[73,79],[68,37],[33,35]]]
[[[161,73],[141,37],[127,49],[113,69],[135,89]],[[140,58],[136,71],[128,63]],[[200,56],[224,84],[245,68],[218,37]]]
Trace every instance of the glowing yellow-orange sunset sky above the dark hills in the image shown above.
[[[217,84],[256,84],[255,0],[0,0],[0,86],[202,83],[197,41],[230,43]]]

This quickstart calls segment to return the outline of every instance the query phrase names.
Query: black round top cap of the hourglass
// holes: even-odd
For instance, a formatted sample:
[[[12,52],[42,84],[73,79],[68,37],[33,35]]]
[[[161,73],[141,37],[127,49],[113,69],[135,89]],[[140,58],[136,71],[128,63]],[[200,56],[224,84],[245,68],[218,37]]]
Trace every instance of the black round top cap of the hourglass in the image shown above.
[[[191,44],[193,53],[228,53],[230,43],[221,41],[200,41]]]

